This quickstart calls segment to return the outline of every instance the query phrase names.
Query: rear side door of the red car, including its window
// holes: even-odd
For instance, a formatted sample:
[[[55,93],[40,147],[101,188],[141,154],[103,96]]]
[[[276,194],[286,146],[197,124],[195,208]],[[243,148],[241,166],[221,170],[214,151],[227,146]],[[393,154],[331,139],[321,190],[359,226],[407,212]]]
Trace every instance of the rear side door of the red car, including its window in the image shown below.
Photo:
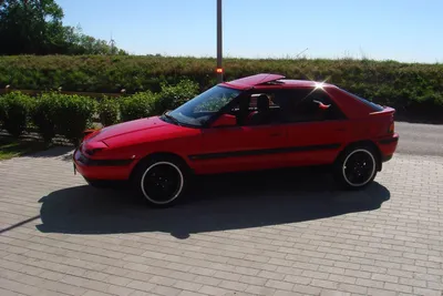
[[[291,165],[333,162],[348,139],[348,121],[321,89],[295,91],[293,108],[287,125]]]

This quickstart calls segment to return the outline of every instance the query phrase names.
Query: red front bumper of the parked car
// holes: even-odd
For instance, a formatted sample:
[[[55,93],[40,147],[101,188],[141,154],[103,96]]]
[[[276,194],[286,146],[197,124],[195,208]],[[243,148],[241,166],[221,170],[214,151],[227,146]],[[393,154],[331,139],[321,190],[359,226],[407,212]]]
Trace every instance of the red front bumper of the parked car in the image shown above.
[[[133,160],[93,160],[76,149],[73,155],[74,170],[86,180],[115,180],[130,178],[134,166]]]

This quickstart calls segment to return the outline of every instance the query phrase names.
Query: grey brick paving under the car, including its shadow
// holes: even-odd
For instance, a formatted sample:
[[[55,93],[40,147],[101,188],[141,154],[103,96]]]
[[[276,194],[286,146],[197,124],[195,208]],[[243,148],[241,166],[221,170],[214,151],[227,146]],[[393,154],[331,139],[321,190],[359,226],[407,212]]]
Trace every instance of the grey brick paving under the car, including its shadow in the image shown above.
[[[360,193],[251,175],[150,210],[63,153],[0,163],[2,296],[442,295],[441,157],[398,154]]]

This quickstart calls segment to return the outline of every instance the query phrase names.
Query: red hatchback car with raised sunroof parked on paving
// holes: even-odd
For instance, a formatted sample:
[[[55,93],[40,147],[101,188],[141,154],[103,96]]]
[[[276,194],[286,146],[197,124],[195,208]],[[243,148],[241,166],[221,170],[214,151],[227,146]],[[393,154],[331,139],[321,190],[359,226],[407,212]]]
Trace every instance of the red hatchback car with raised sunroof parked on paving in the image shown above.
[[[257,74],[217,84],[159,116],[87,134],[74,166],[92,185],[130,181],[155,206],[200,174],[331,164],[362,188],[395,152],[395,110],[336,85]]]

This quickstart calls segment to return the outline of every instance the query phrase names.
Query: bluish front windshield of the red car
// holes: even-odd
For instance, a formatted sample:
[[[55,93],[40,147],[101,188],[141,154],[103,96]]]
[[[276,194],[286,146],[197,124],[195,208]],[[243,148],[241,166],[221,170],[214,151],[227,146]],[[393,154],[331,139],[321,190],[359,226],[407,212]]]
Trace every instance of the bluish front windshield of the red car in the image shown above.
[[[167,113],[181,124],[202,126],[241,91],[216,85]]]

